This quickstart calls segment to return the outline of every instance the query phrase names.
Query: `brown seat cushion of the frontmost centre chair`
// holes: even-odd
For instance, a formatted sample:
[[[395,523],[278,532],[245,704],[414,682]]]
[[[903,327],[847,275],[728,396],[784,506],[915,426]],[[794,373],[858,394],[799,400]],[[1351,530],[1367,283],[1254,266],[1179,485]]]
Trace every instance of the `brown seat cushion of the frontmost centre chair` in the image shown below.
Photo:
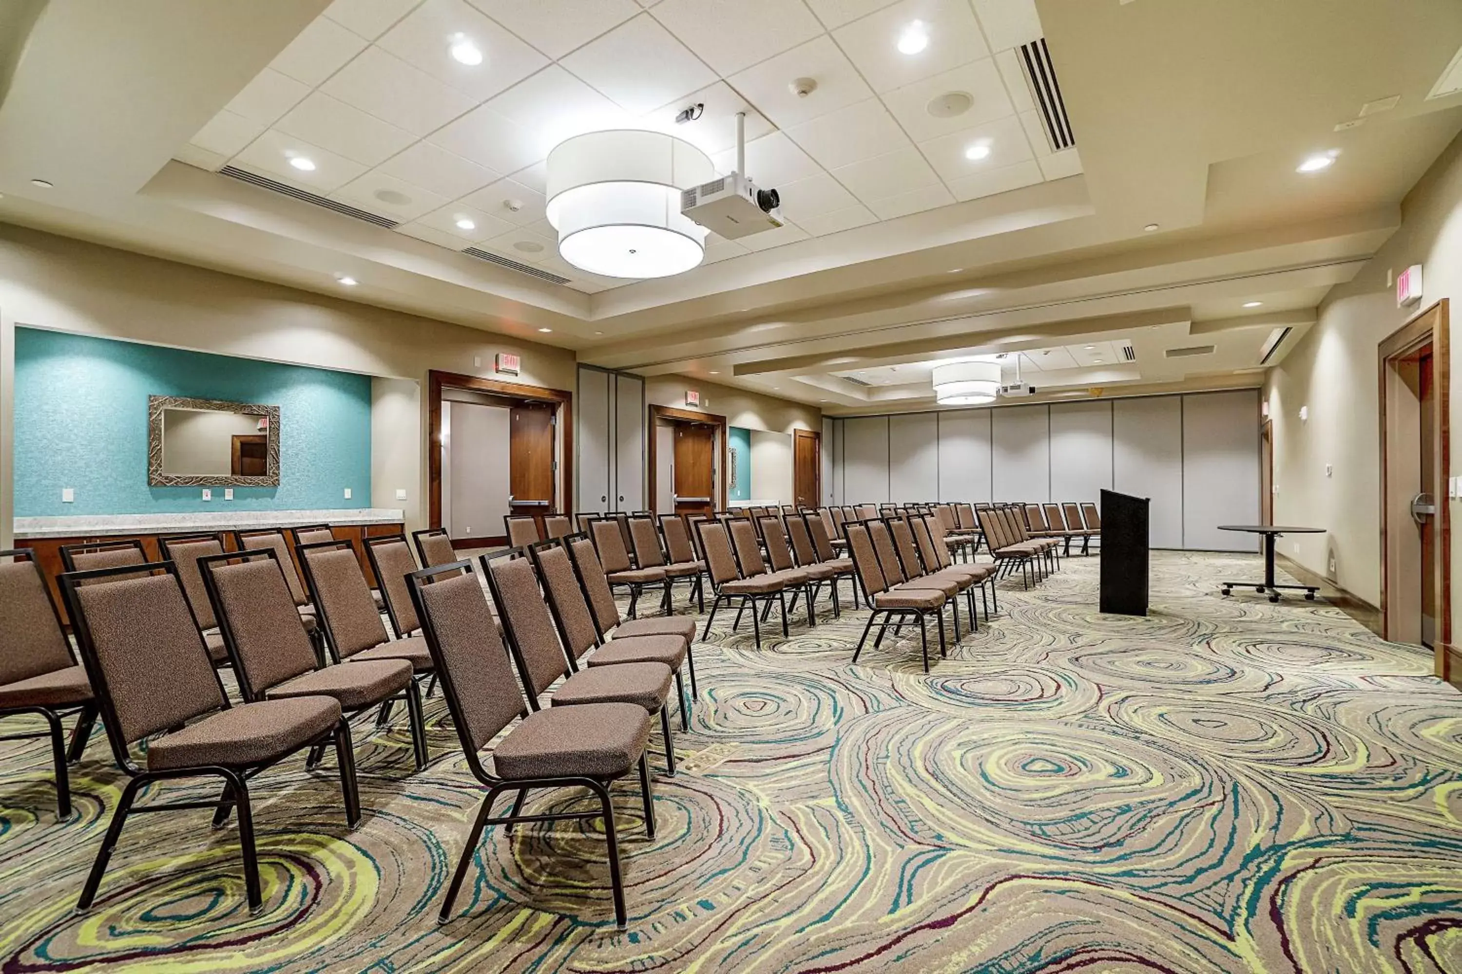
[[[528,714],[493,751],[503,778],[617,778],[645,753],[649,714],[633,704],[553,707]]]

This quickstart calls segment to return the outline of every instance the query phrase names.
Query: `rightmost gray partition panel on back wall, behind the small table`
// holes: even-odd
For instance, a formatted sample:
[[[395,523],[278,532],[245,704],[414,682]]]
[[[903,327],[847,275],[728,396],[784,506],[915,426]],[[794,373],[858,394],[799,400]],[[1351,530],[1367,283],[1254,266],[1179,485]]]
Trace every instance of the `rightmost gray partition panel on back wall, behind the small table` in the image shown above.
[[[1259,523],[1259,390],[1183,397],[1183,546],[1257,551],[1254,534],[1219,524]]]

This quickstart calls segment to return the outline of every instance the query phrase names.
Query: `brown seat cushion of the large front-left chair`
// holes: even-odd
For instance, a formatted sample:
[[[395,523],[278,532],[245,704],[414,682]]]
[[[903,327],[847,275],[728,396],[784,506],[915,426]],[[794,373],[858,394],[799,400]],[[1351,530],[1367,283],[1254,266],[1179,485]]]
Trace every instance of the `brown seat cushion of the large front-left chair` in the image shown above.
[[[341,705],[329,697],[240,704],[154,740],[148,746],[148,768],[265,764],[327,733],[339,720]]]

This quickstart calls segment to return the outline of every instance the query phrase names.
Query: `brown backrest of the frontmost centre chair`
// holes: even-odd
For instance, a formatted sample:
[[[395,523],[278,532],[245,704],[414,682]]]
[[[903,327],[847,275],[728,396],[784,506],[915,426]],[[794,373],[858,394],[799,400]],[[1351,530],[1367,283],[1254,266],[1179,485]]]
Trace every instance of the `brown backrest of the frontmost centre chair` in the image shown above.
[[[452,726],[468,765],[482,778],[477,752],[523,713],[523,695],[482,584],[469,561],[433,565],[411,574],[411,599],[442,679]]]

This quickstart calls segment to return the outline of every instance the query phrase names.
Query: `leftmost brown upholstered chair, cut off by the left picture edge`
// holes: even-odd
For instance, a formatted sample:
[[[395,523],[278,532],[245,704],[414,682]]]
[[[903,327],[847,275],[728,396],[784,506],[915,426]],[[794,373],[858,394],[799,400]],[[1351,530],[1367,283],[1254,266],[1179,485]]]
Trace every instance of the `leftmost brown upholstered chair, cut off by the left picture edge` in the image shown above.
[[[61,717],[77,713],[72,743]],[[0,551],[0,720],[37,714],[45,732],[3,735],[0,740],[51,739],[56,767],[56,815],[72,816],[66,765],[82,759],[96,721],[86,670],[72,654],[61,618],[45,588],[41,565],[29,551]]]

